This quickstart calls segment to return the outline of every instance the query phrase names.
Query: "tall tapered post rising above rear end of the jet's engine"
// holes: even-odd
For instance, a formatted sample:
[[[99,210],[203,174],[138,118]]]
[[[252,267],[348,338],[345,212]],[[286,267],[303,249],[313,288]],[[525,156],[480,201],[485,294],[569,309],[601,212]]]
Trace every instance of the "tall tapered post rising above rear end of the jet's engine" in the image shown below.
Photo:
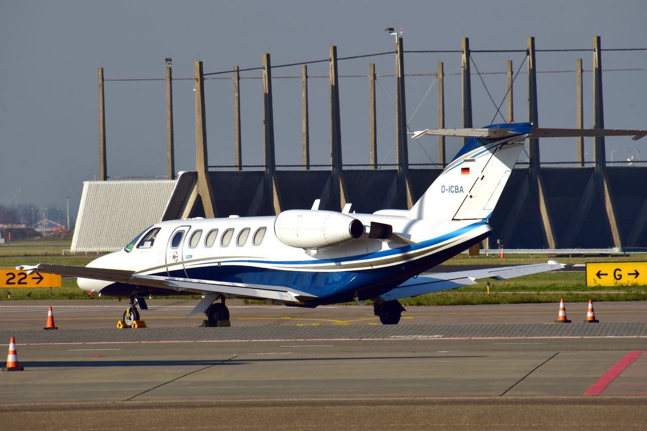
[[[331,202],[333,210],[344,208],[346,195],[342,178],[342,128],[339,109],[339,75],[337,72],[337,47],[330,46],[330,153],[331,153]]]

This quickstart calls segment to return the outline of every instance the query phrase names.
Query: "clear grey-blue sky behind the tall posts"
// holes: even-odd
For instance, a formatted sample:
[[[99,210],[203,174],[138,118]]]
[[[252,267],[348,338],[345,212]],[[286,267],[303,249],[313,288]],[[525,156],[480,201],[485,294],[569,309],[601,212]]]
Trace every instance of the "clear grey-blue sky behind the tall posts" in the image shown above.
[[[272,65],[328,57],[355,56],[395,49],[384,28],[404,29],[406,50],[460,50],[470,38],[472,50],[525,50],[534,36],[536,49],[584,49],[539,52],[540,71],[572,71],[576,58],[591,69],[593,36],[603,49],[647,47],[647,2],[644,0],[544,1],[5,1],[0,8],[0,203],[65,206],[71,214],[83,181],[99,174],[97,68],[105,78],[164,78],[166,57],[173,77],[193,76],[195,60],[205,72],[234,65],[259,67],[269,52]],[[516,70],[525,54],[474,53],[481,72]],[[447,74],[460,72],[460,54],[406,54],[407,74],[432,74],[444,61]],[[340,61],[340,75],[393,74],[392,54]],[[604,52],[605,126],[647,128],[647,52]],[[327,75],[327,63],[309,66],[311,76]],[[521,71],[526,70],[524,64]],[[472,72],[475,72],[472,67]],[[300,67],[274,69],[274,119],[278,164],[301,162]],[[230,76],[230,75],[229,75]],[[258,77],[259,71],[242,74]],[[492,99],[505,96],[505,75],[484,75]],[[433,76],[407,78],[407,113],[412,130],[437,126],[437,89]],[[391,100],[395,80],[378,77]],[[432,86],[433,84],[433,86]],[[195,170],[195,109],[192,81],[174,85],[176,168]],[[311,162],[329,163],[327,78],[310,80]],[[242,80],[243,162],[262,163],[262,83]],[[424,94],[432,86],[429,95]],[[575,74],[539,74],[539,119],[542,127],[575,127]],[[446,127],[461,127],[460,82],[447,76]],[[474,126],[492,122],[496,108],[477,76],[472,77]],[[592,126],[591,73],[584,76],[584,126]],[[395,116],[378,87],[378,159],[394,162]],[[368,153],[368,83],[340,80],[344,163],[366,163]],[[166,175],[165,84],[107,82],[105,109],[107,172],[118,175]],[[424,98],[424,100],[423,100]],[[515,120],[527,119],[526,76],[514,85]],[[505,104],[503,105],[505,110]],[[232,164],[233,87],[231,80],[206,82],[209,162]],[[505,111],[503,111],[505,115]],[[499,117],[496,122],[501,122]],[[437,138],[410,142],[410,161],[437,161]],[[450,141],[448,153],[459,143]],[[424,151],[422,148],[424,147]],[[626,160],[630,153],[647,159],[645,142],[607,140],[607,159]],[[591,144],[587,152],[592,153]],[[522,155],[522,159],[523,159]],[[592,157],[592,155],[587,155]],[[542,160],[575,160],[575,144],[542,144]],[[50,214],[50,219],[52,215]]]

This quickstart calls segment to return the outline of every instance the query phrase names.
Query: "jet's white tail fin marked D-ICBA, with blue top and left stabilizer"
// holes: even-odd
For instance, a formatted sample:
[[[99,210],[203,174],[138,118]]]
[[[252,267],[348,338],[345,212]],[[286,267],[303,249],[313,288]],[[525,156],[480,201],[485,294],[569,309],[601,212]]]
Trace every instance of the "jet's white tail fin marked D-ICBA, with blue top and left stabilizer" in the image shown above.
[[[494,124],[484,129],[445,129],[417,134],[471,138],[413,205],[409,217],[487,219],[499,201],[531,128],[531,123]]]

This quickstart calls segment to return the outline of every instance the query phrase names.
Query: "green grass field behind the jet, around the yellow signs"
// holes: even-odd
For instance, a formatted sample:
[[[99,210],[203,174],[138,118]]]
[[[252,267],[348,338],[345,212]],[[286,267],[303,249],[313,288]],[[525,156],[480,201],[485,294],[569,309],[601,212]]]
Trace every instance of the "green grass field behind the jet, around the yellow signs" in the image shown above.
[[[17,265],[36,265],[36,263],[57,263],[59,265],[87,265],[96,255],[61,256],[62,250],[70,249],[69,240],[39,239],[37,241],[13,241],[0,245],[0,269],[15,269]],[[45,256],[47,252],[47,256]],[[555,257],[549,254],[506,254],[501,259],[499,254],[490,256],[468,257],[460,254],[443,265],[523,265],[556,260],[560,263],[586,263],[596,261],[647,261],[647,254],[609,257]],[[465,304],[520,304],[536,302],[593,301],[629,301],[647,300],[647,287],[587,287],[584,272],[543,272],[531,276],[512,278],[510,280],[490,280],[490,294],[487,294],[487,280],[479,280],[472,286],[461,287],[452,291],[424,294],[415,298],[406,298],[401,302],[406,305],[465,305]],[[0,288],[0,299],[92,299],[76,285],[74,279],[63,279],[62,287],[50,289],[39,288]],[[186,298],[182,296],[181,298]],[[199,298],[199,296],[195,296]],[[104,298],[102,298],[104,299]],[[108,298],[110,299],[110,298]],[[249,302],[256,304],[261,302]]]

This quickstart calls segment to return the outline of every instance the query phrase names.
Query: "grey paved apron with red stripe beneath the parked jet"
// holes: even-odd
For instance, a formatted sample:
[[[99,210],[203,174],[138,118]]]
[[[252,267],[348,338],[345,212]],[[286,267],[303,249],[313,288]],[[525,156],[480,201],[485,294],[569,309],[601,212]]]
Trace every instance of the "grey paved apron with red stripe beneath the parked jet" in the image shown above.
[[[572,324],[552,323],[556,304],[407,307],[397,326],[372,307],[240,304],[210,328],[181,318],[190,302],[151,301],[142,329],[112,327],[124,303],[20,303],[0,303],[25,368],[0,374],[1,429],[647,423],[642,302],[595,304],[599,324],[582,303],[566,304]],[[58,330],[42,329],[49,305]]]

